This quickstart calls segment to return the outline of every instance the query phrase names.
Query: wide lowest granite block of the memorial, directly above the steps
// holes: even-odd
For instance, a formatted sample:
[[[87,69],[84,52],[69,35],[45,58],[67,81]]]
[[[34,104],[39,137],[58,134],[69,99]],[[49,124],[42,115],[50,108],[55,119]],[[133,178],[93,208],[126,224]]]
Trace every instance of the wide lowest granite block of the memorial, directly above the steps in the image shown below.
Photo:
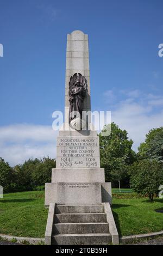
[[[93,205],[111,202],[111,182],[59,182],[45,184],[45,206]]]

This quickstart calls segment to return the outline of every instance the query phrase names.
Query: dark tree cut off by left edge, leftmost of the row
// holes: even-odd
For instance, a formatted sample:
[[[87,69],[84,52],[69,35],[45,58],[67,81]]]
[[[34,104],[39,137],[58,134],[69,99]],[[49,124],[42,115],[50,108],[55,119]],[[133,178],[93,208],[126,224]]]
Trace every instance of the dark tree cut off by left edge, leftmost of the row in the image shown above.
[[[0,185],[4,192],[11,192],[14,184],[15,175],[13,169],[0,157]]]

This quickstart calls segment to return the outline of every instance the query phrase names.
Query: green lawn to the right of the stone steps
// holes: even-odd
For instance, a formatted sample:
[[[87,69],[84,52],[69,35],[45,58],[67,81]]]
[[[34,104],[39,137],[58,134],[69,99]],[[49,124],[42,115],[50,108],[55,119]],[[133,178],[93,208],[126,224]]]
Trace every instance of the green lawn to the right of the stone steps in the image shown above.
[[[163,199],[155,199],[153,203],[148,198],[123,199],[113,197],[112,211],[118,234],[120,236],[145,234],[163,230],[163,214],[156,212],[161,209]]]

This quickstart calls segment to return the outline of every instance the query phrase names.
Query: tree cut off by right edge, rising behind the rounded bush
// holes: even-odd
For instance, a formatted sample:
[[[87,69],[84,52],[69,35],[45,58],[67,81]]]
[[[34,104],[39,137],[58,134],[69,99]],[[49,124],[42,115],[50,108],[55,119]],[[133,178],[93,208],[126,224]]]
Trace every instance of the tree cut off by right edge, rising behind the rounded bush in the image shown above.
[[[152,129],[140,144],[139,159],[151,159],[163,162],[163,127]]]

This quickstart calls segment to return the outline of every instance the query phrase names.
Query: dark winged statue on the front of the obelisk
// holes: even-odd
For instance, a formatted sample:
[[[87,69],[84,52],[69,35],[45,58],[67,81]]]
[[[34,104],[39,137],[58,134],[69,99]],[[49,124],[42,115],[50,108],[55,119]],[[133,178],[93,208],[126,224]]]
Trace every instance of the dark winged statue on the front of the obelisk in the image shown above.
[[[74,74],[69,82],[69,124],[73,119],[80,118],[82,120],[83,100],[87,90],[87,80],[82,74]],[[76,114],[78,112],[78,115]]]

